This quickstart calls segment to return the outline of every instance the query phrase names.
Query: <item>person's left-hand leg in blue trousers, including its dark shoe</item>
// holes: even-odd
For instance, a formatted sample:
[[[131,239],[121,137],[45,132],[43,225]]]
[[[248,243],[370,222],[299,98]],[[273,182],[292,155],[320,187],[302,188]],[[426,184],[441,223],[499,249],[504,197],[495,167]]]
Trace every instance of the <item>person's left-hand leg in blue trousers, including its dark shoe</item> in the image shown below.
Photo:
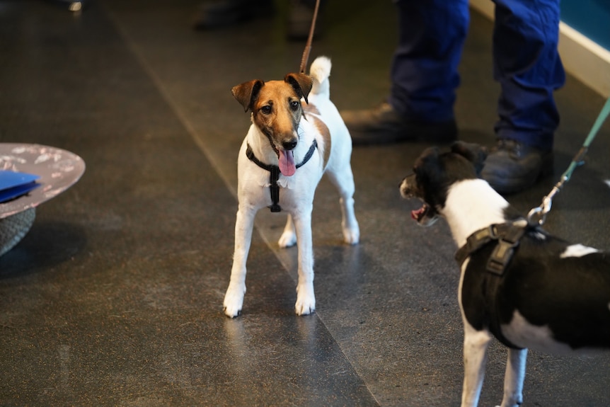
[[[354,144],[456,139],[457,67],[468,33],[468,0],[400,0],[398,47],[386,103],[341,115]]]

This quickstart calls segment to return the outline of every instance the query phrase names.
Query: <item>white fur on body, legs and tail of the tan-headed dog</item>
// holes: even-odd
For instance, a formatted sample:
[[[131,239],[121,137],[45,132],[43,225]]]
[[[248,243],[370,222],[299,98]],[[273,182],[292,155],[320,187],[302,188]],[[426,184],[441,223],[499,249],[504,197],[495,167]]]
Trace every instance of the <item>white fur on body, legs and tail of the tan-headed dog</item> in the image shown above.
[[[350,133],[339,115],[337,108],[330,101],[330,59],[318,57],[312,64],[310,76],[313,87],[309,93],[309,105],[315,105],[319,114],[307,113],[307,117],[318,118],[330,132],[331,143],[323,137],[313,120],[301,117],[298,133],[298,144],[294,151],[294,161],[301,162],[311,147],[314,139],[318,143],[311,159],[297,169],[293,176],[280,174],[280,206],[288,212],[288,219],[279,240],[280,247],[292,246],[298,242],[297,302],[295,310],[298,315],[310,314],[316,309],[316,297],[313,293],[313,243],[311,235],[311,211],[313,195],[323,173],[338,188],[342,210],[342,227],[345,242],[355,244],[359,240],[359,227],[354,214],[355,192],[354,179],[350,166],[352,140]],[[289,86],[286,84],[285,86]],[[306,95],[307,96],[307,95]],[[250,249],[254,217],[258,210],[270,205],[269,172],[258,167],[246,157],[246,146],[249,144],[254,155],[265,164],[278,164],[278,156],[270,144],[270,139],[253,124],[243,140],[239,151],[238,168],[238,212],[235,225],[235,250],[231,281],[224,297],[224,312],[233,318],[238,316],[243,306],[246,292],[246,260]],[[325,151],[330,155],[325,162]]]

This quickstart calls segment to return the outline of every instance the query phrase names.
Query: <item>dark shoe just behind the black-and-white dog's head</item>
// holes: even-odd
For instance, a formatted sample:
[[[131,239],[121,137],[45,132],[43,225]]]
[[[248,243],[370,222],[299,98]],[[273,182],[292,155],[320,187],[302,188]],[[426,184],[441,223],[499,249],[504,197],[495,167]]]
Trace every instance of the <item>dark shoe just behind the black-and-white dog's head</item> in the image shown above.
[[[553,172],[553,151],[542,151],[511,139],[498,139],[480,176],[501,194],[517,193]]]

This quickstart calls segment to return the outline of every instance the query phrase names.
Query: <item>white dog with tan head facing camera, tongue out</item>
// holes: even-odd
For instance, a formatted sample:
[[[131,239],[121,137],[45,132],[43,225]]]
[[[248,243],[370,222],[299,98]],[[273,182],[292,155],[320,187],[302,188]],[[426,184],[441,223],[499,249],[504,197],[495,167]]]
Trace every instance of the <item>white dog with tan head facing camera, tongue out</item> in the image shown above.
[[[354,214],[354,177],[350,166],[352,139],[330,101],[330,59],[318,57],[310,75],[287,74],[283,81],[248,81],[231,89],[252,125],[237,161],[238,211],[231,281],[224,296],[224,313],[241,313],[246,293],[246,260],[258,210],[288,212],[280,247],[298,242],[298,315],[316,309],[313,294],[313,195],[327,173],[340,195],[343,238],[356,244],[359,227]]]

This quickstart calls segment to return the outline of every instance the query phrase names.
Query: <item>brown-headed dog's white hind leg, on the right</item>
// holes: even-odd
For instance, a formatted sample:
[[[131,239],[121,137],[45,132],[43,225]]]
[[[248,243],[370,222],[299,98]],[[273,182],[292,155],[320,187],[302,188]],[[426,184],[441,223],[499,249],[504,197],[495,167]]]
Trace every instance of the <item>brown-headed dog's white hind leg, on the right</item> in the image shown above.
[[[354,193],[356,188],[352,168],[347,164],[340,168],[340,171],[328,171],[328,178],[335,185],[340,195],[343,240],[347,244],[357,244],[360,240],[360,229],[354,213]]]

